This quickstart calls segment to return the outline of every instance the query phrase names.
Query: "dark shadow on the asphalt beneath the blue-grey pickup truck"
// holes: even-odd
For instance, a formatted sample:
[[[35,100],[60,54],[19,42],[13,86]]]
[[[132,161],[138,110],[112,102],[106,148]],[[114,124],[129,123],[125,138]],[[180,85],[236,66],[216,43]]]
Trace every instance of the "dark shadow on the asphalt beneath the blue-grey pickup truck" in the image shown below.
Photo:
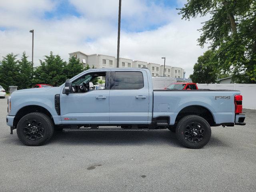
[[[62,145],[169,145],[182,147],[175,133],[169,130],[149,131],[93,131],[93,132],[54,132],[48,144]],[[207,146],[227,146],[212,135]]]

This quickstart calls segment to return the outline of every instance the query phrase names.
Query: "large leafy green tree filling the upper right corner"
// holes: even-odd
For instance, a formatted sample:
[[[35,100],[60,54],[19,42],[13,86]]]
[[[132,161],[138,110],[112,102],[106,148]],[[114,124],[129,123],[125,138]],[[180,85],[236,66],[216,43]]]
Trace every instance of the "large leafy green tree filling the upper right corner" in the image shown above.
[[[179,9],[182,19],[210,16],[200,29],[200,46],[209,43],[216,50],[216,69],[247,77],[256,82],[256,1],[255,0],[188,0]],[[242,72],[246,76],[241,76]]]

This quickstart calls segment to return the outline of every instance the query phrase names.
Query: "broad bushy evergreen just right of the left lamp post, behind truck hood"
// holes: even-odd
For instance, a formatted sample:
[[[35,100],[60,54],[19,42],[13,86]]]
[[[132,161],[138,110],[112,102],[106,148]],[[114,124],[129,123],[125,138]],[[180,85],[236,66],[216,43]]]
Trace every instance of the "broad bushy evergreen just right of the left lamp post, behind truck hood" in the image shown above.
[[[51,84],[58,86],[65,82],[68,72],[65,72],[66,62],[59,55],[54,55],[50,52],[49,56],[45,56],[44,61],[40,60],[34,72],[34,84]]]

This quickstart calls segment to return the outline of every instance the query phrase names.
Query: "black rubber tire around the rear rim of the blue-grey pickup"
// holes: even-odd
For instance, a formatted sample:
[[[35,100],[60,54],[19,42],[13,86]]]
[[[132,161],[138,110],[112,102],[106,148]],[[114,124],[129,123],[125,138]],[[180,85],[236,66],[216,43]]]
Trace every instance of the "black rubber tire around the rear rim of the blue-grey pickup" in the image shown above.
[[[188,133],[188,129],[191,127],[190,125],[192,125],[193,122],[196,122],[202,126],[201,128],[199,128],[200,131],[201,131],[201,129],[204,130],[204,137],[202,138],[202,140],[200,140],[200,142],[193,142],[193,141],[190,142],[190,141],[188,141],[188,138],[190,137],[190,135],[189,136],[185,135]],[[189,128],[187,128],[187,127],[189,127]],[[188,148],[193,148],[193,149],[202,148],[209,142],[209,140],[211,138],[211,134],[212,134],[212,131],[211,131],[211,127],[210,127],[209,123],[204,118],[197,116],[197,115],[188,115],[188,116],[183,117],[178,122],[177,127],[176,127],[176,136],[177,136],[178,141],[182,145],[184,145]]]

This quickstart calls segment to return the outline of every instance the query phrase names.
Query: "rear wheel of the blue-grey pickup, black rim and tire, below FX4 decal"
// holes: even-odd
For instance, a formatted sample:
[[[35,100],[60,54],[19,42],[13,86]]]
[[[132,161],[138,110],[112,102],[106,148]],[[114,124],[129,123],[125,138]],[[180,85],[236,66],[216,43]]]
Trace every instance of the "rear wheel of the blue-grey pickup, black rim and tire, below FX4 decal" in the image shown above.
[[[177,124],[176,136],[179,142],[193,149],[205,146],[211,138],[211,127],[202,117],[188,115],[183,117]]]

